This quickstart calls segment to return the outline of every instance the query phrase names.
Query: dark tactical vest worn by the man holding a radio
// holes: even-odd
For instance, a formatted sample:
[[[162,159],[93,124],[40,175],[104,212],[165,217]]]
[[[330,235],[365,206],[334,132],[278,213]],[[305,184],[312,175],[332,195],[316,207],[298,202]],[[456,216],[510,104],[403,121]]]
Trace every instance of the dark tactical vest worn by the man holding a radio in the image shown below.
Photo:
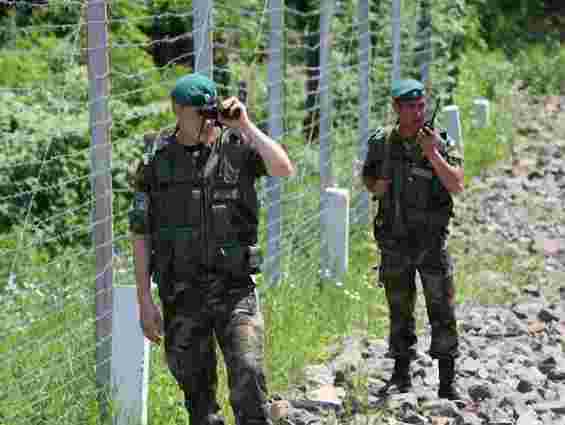
[[[387,140],[388,137],[391,139]],[[388,174],[392,183],[379,203],[375,235],[408,237],[415,233],[445,232],[453,215],[451,194],[434,174],[420,148],[398,137],[395,133],[387,134],[380,146],[382,158],[389,156],[388,171],[383,173]],[[387,167],[386,160],[383,166]],[[395,199],[399,200],[398,206]]]

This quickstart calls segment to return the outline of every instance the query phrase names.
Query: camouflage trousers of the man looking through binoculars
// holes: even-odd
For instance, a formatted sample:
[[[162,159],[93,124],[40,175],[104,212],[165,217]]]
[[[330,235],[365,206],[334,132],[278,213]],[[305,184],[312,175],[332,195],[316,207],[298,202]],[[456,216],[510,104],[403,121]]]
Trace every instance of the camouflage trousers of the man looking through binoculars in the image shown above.
[[[263,318],[249,282],[178,282],[164,301],[165,353],[185,395],[191,425],[216,425],[216,341],[228,371],[237,425],[270,424],[263,371]],[[211,418],[216,418],[212,420]],[[221,423],[221,422],[220,422]]]

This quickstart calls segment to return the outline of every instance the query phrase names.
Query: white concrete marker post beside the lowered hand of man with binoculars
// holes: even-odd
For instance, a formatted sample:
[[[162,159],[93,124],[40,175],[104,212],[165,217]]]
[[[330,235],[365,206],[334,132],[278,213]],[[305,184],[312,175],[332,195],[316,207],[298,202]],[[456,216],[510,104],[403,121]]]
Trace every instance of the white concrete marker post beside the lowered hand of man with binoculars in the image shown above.
[[[113,313],[114,425],[147,425],[150,348],[139,326],[135,286],[114,288]]]

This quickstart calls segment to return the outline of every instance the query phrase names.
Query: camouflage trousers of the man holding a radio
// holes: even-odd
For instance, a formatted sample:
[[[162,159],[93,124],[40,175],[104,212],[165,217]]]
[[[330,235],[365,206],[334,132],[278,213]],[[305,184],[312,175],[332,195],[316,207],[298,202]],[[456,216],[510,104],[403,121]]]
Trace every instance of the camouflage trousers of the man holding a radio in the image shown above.
[[[429,354],[433,358],[457,357],[453,265],[445,237],[428,236],[425,243],[381,240],[379,246],[379,279],[389,307],[391,357],[412,358],[416,354],[416,271],[420,274],[432,330]]]

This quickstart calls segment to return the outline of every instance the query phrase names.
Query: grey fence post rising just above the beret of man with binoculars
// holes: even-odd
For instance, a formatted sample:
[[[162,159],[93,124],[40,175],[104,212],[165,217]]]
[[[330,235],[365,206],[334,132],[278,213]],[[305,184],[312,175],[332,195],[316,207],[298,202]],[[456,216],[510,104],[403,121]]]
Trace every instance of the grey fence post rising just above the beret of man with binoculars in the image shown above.
[[[212,44],[212,10],[214,0],[193,0],[192,37],[194,39],[194,71],[212,78],[214,75]]]

